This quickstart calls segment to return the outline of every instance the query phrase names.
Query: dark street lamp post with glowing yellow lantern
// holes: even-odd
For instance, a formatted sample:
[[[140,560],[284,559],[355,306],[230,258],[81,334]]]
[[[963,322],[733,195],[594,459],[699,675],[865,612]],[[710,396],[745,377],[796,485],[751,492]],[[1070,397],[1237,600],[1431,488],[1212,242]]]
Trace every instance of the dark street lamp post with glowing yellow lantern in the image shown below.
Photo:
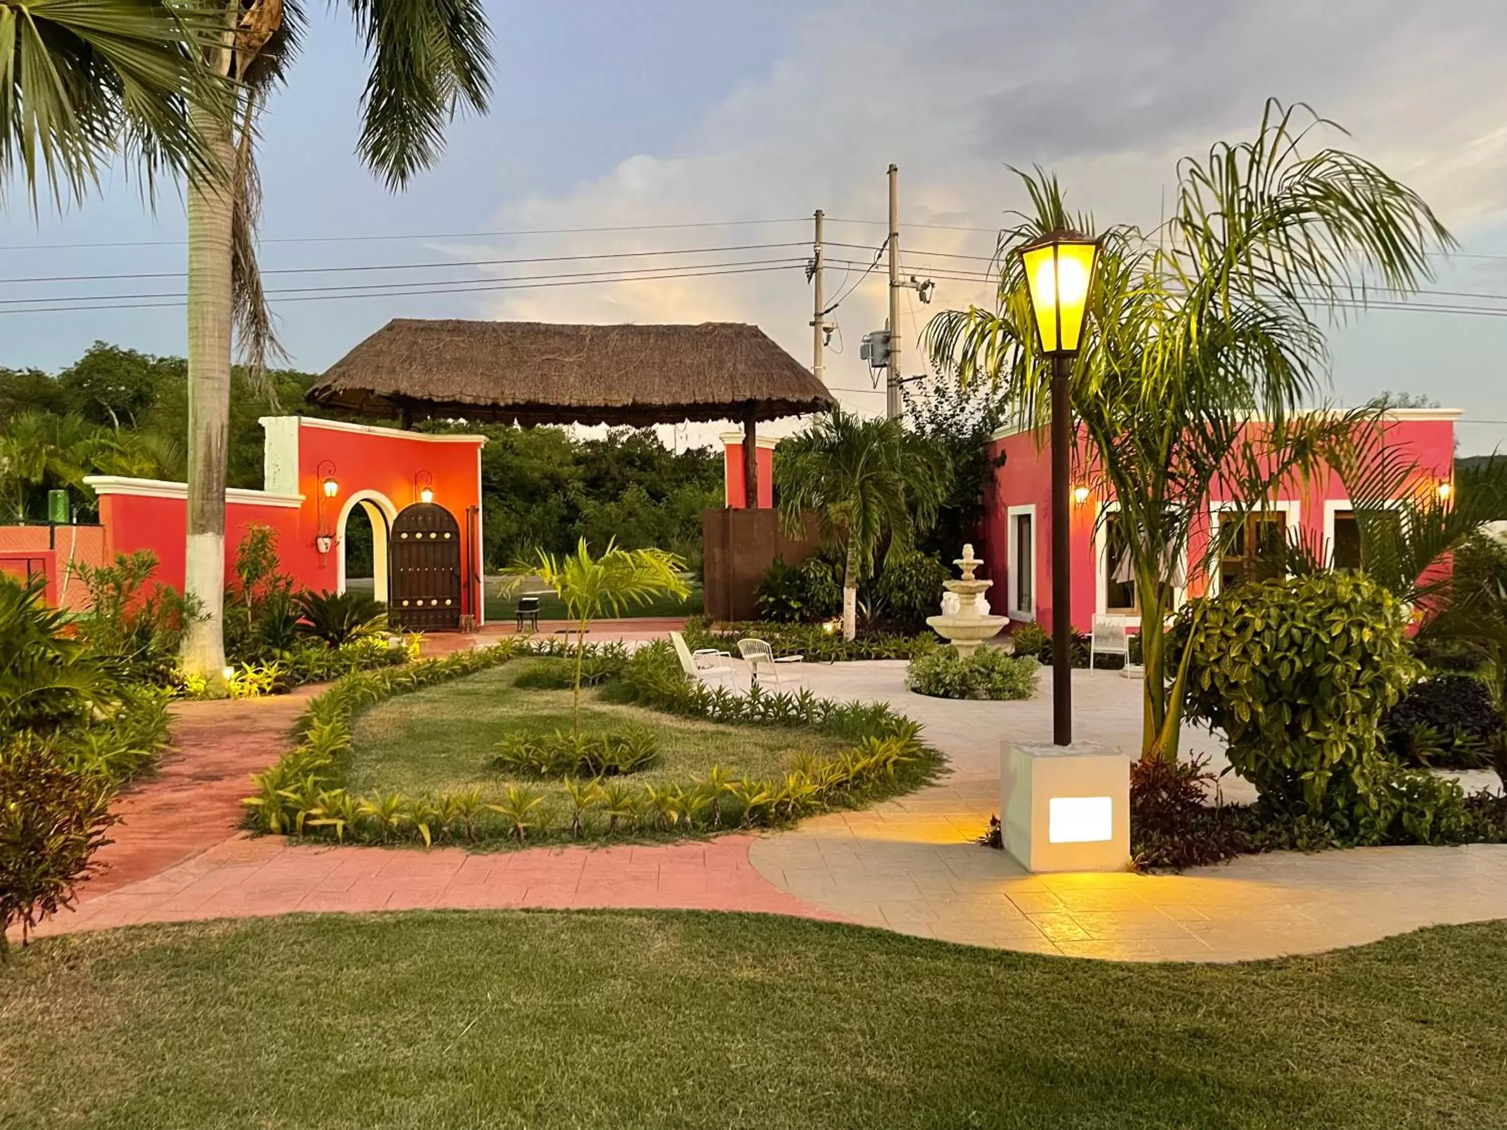
[[[1084,337],[1099,241],[1056,231],[1020,249],[1041,353],[1052,359],[1052,741],[1073,744],[1073,567],[1068,377]]]

